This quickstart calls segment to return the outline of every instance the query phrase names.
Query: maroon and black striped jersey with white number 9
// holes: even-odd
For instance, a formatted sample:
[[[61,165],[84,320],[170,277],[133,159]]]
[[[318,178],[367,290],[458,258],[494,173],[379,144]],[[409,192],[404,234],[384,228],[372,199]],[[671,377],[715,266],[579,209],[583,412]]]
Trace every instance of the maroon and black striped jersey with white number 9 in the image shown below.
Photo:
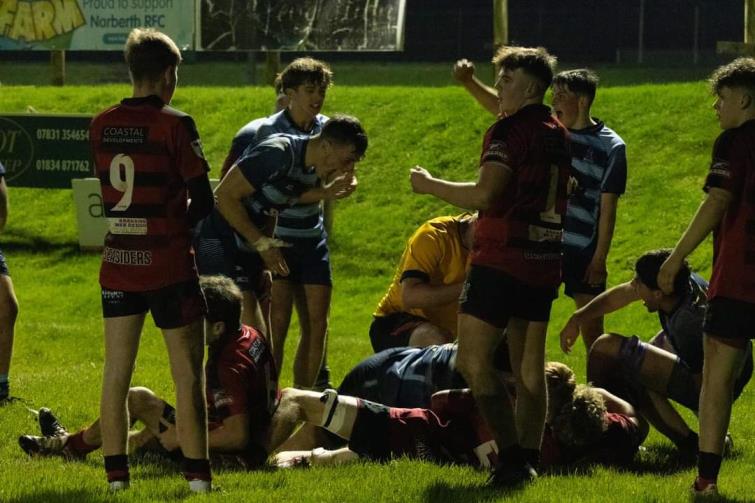
[[[89,127],[109,223],[103,288],[143,292],[196,278],[186,182],[206,176],[194,121],[157,96],[124,99]]]

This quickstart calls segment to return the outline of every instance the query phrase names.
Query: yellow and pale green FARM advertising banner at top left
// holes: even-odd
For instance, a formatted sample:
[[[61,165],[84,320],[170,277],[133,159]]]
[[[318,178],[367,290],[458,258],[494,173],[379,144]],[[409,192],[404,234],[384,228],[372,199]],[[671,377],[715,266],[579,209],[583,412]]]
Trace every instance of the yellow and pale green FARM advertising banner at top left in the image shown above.
[[[194,47],[194,0],[0,0],[0,50],[120,51],[133,28]]]

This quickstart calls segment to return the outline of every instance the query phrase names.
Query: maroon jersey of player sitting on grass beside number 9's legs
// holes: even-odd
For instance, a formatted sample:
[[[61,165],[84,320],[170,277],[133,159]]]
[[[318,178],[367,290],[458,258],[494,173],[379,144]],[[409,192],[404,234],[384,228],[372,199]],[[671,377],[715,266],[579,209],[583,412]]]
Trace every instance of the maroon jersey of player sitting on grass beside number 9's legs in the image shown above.
[[[243,325],[223,346],[211,346],[205,378],[210,429],[247,414],[252,440],[263,444],[280,398],[278,372],[265,337]]]

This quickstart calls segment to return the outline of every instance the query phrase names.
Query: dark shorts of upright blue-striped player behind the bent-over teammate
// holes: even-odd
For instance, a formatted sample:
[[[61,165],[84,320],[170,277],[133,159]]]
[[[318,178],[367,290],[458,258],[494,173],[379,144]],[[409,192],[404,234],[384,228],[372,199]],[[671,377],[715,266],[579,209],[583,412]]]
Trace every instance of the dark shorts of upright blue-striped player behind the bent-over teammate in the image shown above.
[[[291,246],[281,248],[288,276],[275,276],[299,285],[333,286],[326,238],[281,238]]]

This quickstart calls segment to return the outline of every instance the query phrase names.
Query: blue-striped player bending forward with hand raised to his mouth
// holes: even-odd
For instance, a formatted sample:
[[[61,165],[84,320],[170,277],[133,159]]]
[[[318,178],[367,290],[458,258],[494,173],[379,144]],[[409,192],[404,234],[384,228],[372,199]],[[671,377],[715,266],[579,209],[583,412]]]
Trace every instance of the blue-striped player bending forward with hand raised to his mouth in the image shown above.
[[[281,251],[291,243],[270,237],[272,229],[264,227],[269,216],[294,204],[350,195],[356,188],[355,164],[366,149],[367,135],[359,121],[339,115],[315,136],[276,134],[246,150],[216,188],[217,211],[202,222],[196,243],[200,272],[225,274],[237,282],[258,277],[264,269],[296,277],[300,264],[289,268]],[[297,358],[294,365],[299,386],[315,384],[325,348],[324,332],[321,335],[302,338],[299,353],[306,358]]]

